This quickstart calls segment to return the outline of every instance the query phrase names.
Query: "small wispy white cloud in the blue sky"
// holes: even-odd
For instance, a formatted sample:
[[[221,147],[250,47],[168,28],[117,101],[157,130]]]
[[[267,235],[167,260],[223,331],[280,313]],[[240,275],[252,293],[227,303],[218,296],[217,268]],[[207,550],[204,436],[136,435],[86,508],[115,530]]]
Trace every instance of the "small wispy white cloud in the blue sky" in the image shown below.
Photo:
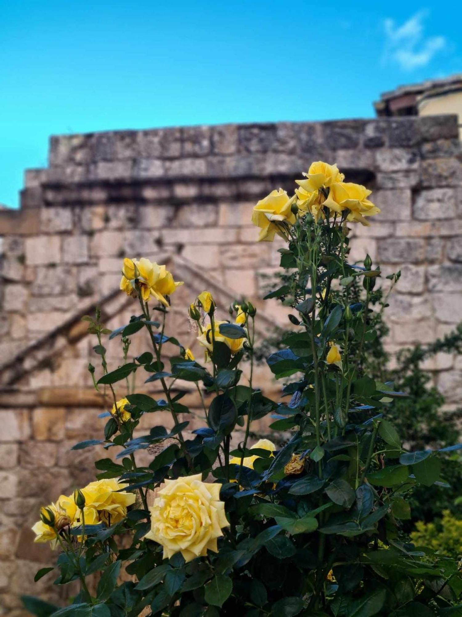
[[[428,11],[419,10],[402,25],[392,19],[384,20],[386,41],[382,64],[394,62],[407,71],[426,67],[437,52],[447,46],[444,36],[425,36],[426,17]]]

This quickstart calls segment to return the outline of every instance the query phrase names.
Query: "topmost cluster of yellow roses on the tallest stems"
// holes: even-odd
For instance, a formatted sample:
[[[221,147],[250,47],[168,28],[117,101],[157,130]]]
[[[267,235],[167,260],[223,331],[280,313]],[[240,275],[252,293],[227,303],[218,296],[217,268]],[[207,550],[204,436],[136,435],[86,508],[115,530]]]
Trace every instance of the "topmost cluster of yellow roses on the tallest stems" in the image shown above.
[[[261,229],[259,241],[272,242],[275,234],[286,239],[288,228],[294,225],[297,216],[307,213],[312,215],[315,223],[320,217],[340,216],[342,220],[369,225],[365,217],[380,212],[368,199],[371,191],[362,184],[344,182],[345,176],[337,165],[317,161],[303,175],[306,179],[296,180],[298,188],[293,197],[279,189],[256,204],[252,222]]]

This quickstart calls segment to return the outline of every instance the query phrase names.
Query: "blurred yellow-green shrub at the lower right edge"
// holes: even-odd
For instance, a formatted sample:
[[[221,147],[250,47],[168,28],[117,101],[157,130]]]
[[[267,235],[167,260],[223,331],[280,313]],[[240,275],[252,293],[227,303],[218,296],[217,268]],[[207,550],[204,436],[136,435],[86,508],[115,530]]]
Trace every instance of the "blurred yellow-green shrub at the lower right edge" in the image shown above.
[[[462,521],[449,510],[443,511],[443,518],[432,523],[418,521],[411,539],[416,545],[428,546],[447,557],[462,555]]]

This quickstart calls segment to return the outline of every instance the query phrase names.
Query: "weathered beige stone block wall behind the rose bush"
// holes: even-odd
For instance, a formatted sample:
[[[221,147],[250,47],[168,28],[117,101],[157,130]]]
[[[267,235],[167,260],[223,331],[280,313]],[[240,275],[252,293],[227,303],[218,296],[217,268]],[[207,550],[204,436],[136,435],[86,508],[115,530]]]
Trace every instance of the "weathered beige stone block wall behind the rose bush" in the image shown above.
[[[49,167],[26,172],[22,208],[0,211],[0,615],[25,614],[20,593],[59,600],[52,574],[33,586],[51,556],[31,544],[30,525],[39,505],[92,478],[99,455],[69,451],[98,434],[107,404],[91,389],[95,343],[81,315],[101,305],[113,328],[136,312],[116,291],[125,255],[166,261],[185,281],[169,327],[188,344],[195,334],[185,309],[203,288],[223,307],[243,294],[262,308],[280,245],[255,242],[251,208],[273,188],[293,191],[294,178],[318,159],[367,184],[382,209],[370,228],[355,228],[351,259],[368,251],[384,273],[402,271],[388,309],[389,349],[450,331],[462,319],[455,116],[59,136]],[[265,303],[262,325],[280,315]],[[131,354],[142,343],[134,338]],[[113,346],[115,363],[120,353]],[[440,354],[428,368],[456,406],[460,359]],[[264,368],[259,379],[271,387]]]

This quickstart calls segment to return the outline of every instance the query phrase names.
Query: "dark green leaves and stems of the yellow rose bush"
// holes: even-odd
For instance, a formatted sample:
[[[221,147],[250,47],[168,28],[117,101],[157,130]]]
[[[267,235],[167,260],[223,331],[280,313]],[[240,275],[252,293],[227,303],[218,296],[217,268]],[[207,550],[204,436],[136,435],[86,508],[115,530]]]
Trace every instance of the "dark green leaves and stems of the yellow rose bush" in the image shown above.
[[[102,345],[108,332],[100,315],[87,318],[101,357],[102,375],[94,377],[95,387],[108,388],[115,404],[123,393],[128,415],[110,412],[105,439],[76,447],[99,446],[110,452],[115,448],[117,462],[102,458],[96,463],[99,477],[118,477],[139,499],[111,526],[107,521],[85,530],[59,529],[63,552],[55,582],[80,579],[81,592],[73,605],[56,615],[135,617],[145,607],[153,616],[171,617],[458,614],[447,612],[458,610],[462,591],[456,561],[425,547],[415,550],[402,523],[411,516],[411,491],[416,486],[431,490],[447,473],[446,458],[457,450],[447,453],[443,444],[419,441],[423,429],[411,433],[403,419],[410,415],[411,405],[415,413],[422,393],[407,398],[405,379],[415,375],[409,368],[395,383],[384,374],[381,338],[386,326],[381,313],[387,302],[381,289],[375,289],[380,270],[372,268],[369,258],[364,267],[348,262],[346,212],[333,220],[320,218],[316,224],[310,215],[299,217],[291,227],[282,224],[280,231],[288,239],[280,249],[287,271],[282,286],[271,295],[291,307],[294,327],[283,334],[267,363],[283,380],[282,402],[267,399],[254,386],[253,368],[248,383],[240,383],[241,360],[245,357],[253,367],[256,355],[258,315],[249,312],[247,304],[241,304],[240,324],[221,324],[217,331],[215,304],[208,315],[190,310],[194,320],[200,315],[201,333],[205,320],[210,321],[206,340],[211,362],[205,366],[164,333],[165,307],[154,307],[162,321],[152,321],[141,294],[142,314],[111,334],[114,343],[122,335],[124,352],[123,365],[111,371]],[[393,276],[392,283],[398,279]],[[137,280],[133,284],[136,289]],[[148,333],[152,349],[129,361],[127,336],[142,332]],[[178,354],[170,358],[170,368],[162,353],[167,344]],[[330,361],[333,346],[340,350],[341,361]],[[134,375],[161,387],[161,398],[134,392]],[[189,422],[179,418],[190,417],[190,410],[182,403],[185,392],[175,394],[172,389],[177,379],[196,387],[203,402],[204,426],[188,436],[184,431]],[[203,392],[212,395],[209,405]],[[437,404],[431,399],[422,406],[423,423]],[[172,418],[171,429],[163,426],[166,413]],[[140,434],[145,414],[151,415],[152,428]],[[269,414],[274,428],[285,431],[277,438],[284,445],[270,455],[262,449],[253,452],[248,448],[251,422]],[[230,453],[237,426],[244,429],[242,439]],[[138,466],[139,450],[157,454],[147,466]],[[230,460],[231,455],[239,464]],[[245,464],[250,456],[255,460]],[[293,473],[288,463],[301,464]],[[197,518],[193,531],[188,528],[184,534],[182,551],[164,558],[171,553],[164,553],[161,544],[150,539],[153,536],[146,537],[155,516],[147,507],[147,491],[166,479],[191,475],[213,478],[220,485],[229,528],[218,538],[217,552],[211,549],[206,557],[189,560],[185,537],[206,534],[211,525],[202,509],[199,516],[192,508]],[[163,507],[162,500],[156,503]],[[168,529],[179,524],[183,507],[180,499],[169,508]],[[115,541],[122,533],[128,540],[124,549]],[[171,550],[171,544],[163,544]],[[118,580],[122,564],[136,582]],[[95,571],[101,576],[91,595],[86,576]]]

